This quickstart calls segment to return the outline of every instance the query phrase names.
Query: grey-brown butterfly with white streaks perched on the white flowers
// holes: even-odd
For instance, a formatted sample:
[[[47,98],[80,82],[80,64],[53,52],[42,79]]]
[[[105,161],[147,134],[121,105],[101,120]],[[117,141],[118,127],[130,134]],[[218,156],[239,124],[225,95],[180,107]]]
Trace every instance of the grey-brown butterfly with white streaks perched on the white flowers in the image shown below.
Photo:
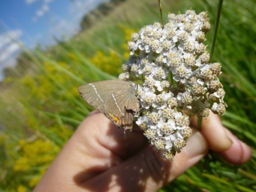
[[[138,98],[131,82],[92,82],[80,86],[78,92],[88,104],[104,113],[118,127],[124,130],[133,129],[133,113],[138,112]]]

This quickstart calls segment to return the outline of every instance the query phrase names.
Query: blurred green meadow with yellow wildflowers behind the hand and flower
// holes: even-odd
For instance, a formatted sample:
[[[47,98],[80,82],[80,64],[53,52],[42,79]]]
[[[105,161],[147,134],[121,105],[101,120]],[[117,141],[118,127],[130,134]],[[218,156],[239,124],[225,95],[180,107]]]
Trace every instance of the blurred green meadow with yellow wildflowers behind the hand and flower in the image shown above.
[[[211,30],[217,1],[165,0],[163,15],[190,8],[207,11]],[[256,190],[256,6],[254,0],[225,0],[214,61],[222,63],[227,113],[222,123],[250,145],[253,157],[231,165],[210,153],[160,191]],[[160,22],[157,0],[112,0],[85,15],[81,31],[47,49],[23,47],[14,68],[0,83],[0,191],[31,191],[86,115],[93,110],[77,88],[115,79],[129,57],[131,33]],[[21,45],[22,46],[22,45]]]

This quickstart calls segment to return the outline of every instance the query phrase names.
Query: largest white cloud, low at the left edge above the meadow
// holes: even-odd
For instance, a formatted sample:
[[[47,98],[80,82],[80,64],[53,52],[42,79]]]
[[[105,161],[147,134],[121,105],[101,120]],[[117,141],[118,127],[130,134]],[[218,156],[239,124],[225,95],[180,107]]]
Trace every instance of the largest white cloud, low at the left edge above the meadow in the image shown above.
[[[3,78],[4,68],[15,66],[16,56],[20,51],[19,38],[22,34],[19,29],[0,34],[0,79]]]

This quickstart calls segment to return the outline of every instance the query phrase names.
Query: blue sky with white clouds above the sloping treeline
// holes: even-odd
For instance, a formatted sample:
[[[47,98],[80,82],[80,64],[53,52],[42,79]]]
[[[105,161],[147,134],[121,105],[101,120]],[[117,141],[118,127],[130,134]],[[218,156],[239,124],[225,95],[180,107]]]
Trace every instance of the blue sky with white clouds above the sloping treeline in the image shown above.
[[[53,37],[70,37],[79,31],[82,16],[108,0],[1,0],[0,80],[3,68],[14,66],[23,44],[34,48],[53,45]]]

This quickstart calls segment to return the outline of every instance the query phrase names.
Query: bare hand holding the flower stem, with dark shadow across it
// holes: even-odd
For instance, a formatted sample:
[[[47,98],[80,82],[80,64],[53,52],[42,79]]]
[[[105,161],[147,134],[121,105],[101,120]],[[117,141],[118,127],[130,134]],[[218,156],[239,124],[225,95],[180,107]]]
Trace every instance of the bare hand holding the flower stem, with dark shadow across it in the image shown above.
[[[157,191],[202,159],[209,149],[226,161],[249,161],[251,149],[232,135],[217,115],[210,113],[181,153],[169,162],[148,144],[143,133],[117,129],[102,113],[93,112],[74,135],[34,189],[39,191]]]

